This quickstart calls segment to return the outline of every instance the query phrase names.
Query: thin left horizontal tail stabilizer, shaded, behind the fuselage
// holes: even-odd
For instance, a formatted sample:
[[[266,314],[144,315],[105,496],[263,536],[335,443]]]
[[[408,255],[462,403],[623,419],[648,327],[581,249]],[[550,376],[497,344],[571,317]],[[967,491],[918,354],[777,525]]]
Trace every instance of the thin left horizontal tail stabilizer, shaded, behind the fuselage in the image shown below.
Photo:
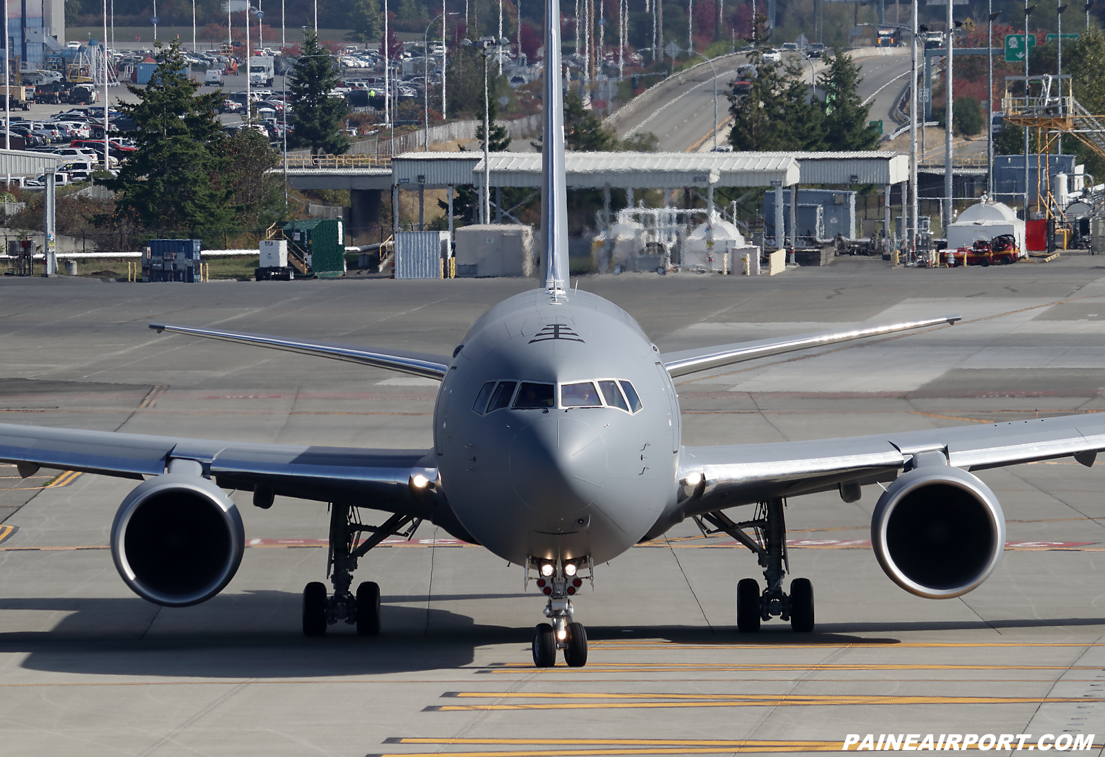
[[[150,324],[149,327],[158,334],[161,332],[190,334],[191,336],[233,341],[240,345],[281,349],[285,353],[299,353],[301,355],[327,357],[333,360],[359,362],[362,366],[386,368],[400,374],[411,374],[412,376],[421,376],[422,378],[436,379],[439,381],[445,376],[445,371],[449,370],[449,364],[452,362],[451,358],[443,355],[410,353],[402,349],[379,349],[376,347],[344,345],[333,341],[312,341],[309,339],[285,339],[283,337],[264,336],[262,334],[243,334],[241,332],[193,328],[191,326],[175,326],[172,324]]]

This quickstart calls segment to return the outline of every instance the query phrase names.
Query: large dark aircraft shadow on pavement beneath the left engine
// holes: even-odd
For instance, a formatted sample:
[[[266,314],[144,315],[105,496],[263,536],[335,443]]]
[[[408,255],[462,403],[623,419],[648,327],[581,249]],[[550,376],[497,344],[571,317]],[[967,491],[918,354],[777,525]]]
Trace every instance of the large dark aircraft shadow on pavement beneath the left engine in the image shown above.
[[[482,596],[432,600],[470,598]],[[29,652],[23,667],[52,672],[277,679],[455,669],[473,663],[476,646],[529,643],[532,628],[480,625],[465,614],[428,609],[425,600],[385,596],[378,637],[358,637],[339,622],[308,639],[299,627],[301,595],[283,591],[222,595],[191,608],[161,608],[137,597],[0,599],[0,616],[70,613],[49,631],[0,632],[0,652]]]

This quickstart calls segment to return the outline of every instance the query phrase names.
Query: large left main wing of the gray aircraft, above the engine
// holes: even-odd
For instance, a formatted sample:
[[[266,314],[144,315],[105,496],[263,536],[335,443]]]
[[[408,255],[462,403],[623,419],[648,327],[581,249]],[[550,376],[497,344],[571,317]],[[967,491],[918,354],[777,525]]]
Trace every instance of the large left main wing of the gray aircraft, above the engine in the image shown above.
[[[414,475],[435,479],[427,466],[434,462],[431,450],[251,444],[0,423],[0,462],[14,463],[23,476],[50,467],[140,481],[165,473],[173,460],[199,462],[225,488],[364,503],[417,517],[430,517],[436,500],[433,487],[418,494],[411,488]]]

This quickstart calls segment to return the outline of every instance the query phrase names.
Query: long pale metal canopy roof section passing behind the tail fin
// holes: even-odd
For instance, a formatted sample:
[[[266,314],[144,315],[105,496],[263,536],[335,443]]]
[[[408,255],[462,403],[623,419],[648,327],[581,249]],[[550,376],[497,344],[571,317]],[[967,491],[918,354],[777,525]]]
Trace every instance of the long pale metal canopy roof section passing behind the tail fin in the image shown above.
[[[403,156],[406,157],[406,156]],[[495,153],[488,158],[492,187],[540,187],[538,153]],[[594,189],[783,186],[799,180],[794,156],[765,153],[568,153],[565,156],[568,187]],[[483,186],[483,159],[472,171]]]

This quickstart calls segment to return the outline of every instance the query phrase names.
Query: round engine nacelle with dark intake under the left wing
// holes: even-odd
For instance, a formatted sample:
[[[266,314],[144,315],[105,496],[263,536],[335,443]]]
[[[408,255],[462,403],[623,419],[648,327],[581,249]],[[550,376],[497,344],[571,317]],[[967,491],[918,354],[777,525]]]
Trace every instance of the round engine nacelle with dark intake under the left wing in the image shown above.
[[[242,561],[238,508],[198,475],[166,473],[134,488],[112,524],[112,557],[141,597],[187,607],[222,591]]]

